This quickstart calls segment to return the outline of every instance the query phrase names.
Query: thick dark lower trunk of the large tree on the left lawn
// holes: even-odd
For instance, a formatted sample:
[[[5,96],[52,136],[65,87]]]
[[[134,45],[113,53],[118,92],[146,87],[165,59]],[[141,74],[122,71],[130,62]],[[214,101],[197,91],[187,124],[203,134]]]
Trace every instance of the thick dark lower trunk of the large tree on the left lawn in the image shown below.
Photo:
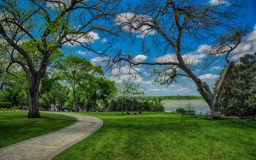
[[[29,87],[29,113],[26,118],[41,118],[38,111],[38,85],[32,83]]]

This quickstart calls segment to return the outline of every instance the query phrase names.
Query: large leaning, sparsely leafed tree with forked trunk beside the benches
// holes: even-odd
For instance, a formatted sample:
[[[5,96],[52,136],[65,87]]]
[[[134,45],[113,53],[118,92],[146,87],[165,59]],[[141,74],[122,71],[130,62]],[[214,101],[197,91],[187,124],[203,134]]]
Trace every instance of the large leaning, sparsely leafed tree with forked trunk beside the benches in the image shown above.
[[[247,3],[244,0],[140,0],[131,3],[129,12],[117,16],[115,24],[122,26],[123,34],[129,35],[131,43],[141,42],[142,55],[134,56],[131,51],[120,49],[110,58],[112,65],[108,66],[113,68],[120,64],[134,70],[134,66],[139,65],[156,66],[151,72],[157,77],[155,82],[160,84],[169,85],[177,81],[178,76],[188,77],[195,82],[210,110],[218,111],[221,87],[234,64],[229,60],[230,52],[247,35],[247,26],[243,28],[239,22],[244,19]],[[202,67],[219,57],[227,63],[213,92],[194,72],[197,66],[191,52],[199,45],[198,52],[205,55]],[[152,52],[159,54],[152,57],[152,61],[143,61],[143,56]]]

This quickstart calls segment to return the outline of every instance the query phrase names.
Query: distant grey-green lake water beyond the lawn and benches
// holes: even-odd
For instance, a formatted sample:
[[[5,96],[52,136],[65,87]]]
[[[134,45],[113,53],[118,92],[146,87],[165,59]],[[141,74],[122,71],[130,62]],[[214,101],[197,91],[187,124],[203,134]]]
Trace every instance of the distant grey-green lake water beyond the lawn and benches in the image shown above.
[[[200,109],[202,110],[202,114],[206,111],[210,111],[209,105],[204,100],[165,100],[161,101],[163,103],[163,107],[165,107],[166,112],[175,111],[177,108],[186,109],[185,105],[190,101],[191,105],[194,106],[195,113],[200,113]]]

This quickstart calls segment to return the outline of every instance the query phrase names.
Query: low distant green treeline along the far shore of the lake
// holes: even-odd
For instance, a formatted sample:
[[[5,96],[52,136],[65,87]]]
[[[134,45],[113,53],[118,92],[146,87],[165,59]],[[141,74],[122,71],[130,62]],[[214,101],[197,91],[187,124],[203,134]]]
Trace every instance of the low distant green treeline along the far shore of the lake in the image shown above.
[[[198,100],[203,99],[202,96],[129,96],[128,99],[138,99],[139,97],[142,97],[144,99],[147,99],[148,101],[151,101],[154,98],[161,98],[162,100]]]

